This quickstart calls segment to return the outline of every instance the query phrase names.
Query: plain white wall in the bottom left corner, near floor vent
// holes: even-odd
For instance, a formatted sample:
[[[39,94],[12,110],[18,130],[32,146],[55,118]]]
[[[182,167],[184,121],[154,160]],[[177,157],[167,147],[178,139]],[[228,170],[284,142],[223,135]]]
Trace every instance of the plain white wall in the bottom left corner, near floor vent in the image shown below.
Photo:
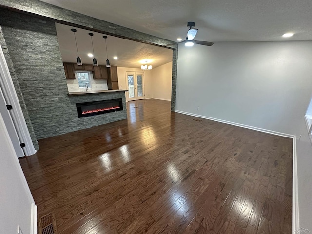
[[[0,149],[0,233],[16,234],[20,225],[24,234],[30,234],[31,206],[34,200],[2,115],[0,115]]]

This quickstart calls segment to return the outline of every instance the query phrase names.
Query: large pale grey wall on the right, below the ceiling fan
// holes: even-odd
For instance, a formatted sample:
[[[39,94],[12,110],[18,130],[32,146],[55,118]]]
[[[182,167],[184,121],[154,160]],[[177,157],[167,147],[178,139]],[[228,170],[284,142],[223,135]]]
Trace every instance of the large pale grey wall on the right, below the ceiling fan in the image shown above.
[[[300,226],[312,230],[312,42],[179,46],[176,110],[286,134],[297,142]],[[199,111],[196,107],[199,106]]]

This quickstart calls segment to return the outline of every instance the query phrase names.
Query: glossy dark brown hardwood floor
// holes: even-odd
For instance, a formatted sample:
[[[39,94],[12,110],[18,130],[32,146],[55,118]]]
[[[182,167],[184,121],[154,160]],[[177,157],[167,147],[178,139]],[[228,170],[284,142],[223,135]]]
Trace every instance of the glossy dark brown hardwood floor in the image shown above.
[[[129,102],[20,159],[59,234],[290,234],[292,140]]]

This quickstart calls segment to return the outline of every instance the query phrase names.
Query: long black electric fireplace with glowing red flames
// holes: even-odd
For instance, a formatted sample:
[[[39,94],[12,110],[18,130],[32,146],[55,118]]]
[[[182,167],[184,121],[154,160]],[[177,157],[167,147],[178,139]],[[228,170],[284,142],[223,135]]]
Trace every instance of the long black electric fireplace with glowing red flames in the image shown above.
[[[122,111],[122,99],[76,103],[78,117],[100,115],[108,112]]]

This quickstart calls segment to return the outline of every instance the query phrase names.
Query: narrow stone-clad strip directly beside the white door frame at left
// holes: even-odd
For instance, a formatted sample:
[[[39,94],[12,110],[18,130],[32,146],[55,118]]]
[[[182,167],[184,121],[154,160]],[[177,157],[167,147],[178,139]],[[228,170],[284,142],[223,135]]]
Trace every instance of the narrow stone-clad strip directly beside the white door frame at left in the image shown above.
[[[4,57],[5,57],[6,63],[8,65],[9,71],[10,71],[10,75],[11,75],[11,78],[12,78],[12,81],[13,81],[13,84],[14,84],[14,88],[16,90],[16,94],[17,94],[17,96],[19,98],[19,101],[20,101],[20,107],[21,107],[21,110],[23,112],[23,115],[24,115],[24,118],[25,118],[25,121],[26,121],[26,124],[27,124],[27,128],[28,128],[30,137],[32,139],[32,142],[34,144],[35,149],[39,150],[37,137],[35,135],[35,132],[34,132],[34,129],[33,129],[33,125],[31,124],[31,121],[30,121],[30,118],[29,118],[29,115],[28,115],[28,110],[27,110],[27,107],[26,107],[26,104],[25,104],[25,100],[24,100],[23,94],[22,94],[21,89],[20,89],[19,81],[16,78],[16,74],[15,74],[15,70],[14,70],[14,67],[13,67],[12,59],[11,59],[11,56],[9,54],[9,51],[8,51],[5,39],[3,37],[1,25],[0,25],[0,45],[1,45],[1,48],[3,50],[3,54],[4,54]]]

